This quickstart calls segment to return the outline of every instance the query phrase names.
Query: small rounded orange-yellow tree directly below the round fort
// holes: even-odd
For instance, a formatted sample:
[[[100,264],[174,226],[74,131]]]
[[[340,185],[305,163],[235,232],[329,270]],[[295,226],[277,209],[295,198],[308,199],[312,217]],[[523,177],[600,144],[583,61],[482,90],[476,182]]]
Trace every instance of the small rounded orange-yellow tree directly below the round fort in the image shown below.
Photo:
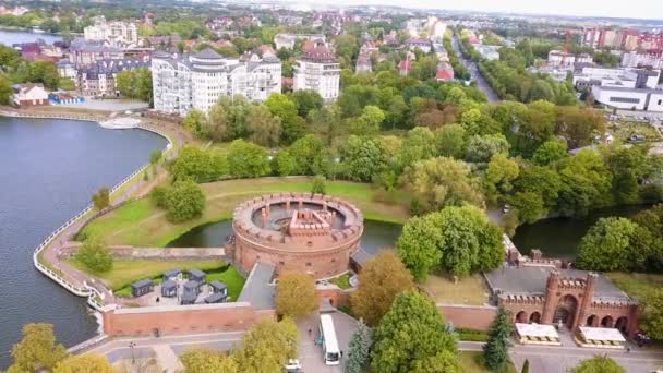
[[[284,273],[276,289],[276,312],[299,318],[317,311],[315,279],[304,273]]]

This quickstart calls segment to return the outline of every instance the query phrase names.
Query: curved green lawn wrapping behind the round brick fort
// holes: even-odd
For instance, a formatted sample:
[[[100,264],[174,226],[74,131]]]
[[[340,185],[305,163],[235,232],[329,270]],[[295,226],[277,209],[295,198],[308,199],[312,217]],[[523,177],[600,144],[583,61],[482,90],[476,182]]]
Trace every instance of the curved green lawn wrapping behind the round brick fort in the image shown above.
[[[241,202],[274,192],[310,192],[311,178],[262,178],[226,180],[201,184],[207,197],[202,217],[182,224],[166,220],[166,213],[148,198],[132,202],[93,221],[84,233],[101,236],[108,244],[165,246],[193,227],[228,219]],[[409,217],[407,195],[388,197],[397,202],[382,202],[385,196],[371,184],[349,181],[328,181],[327,193],[353,203],[366,219],[405,222]]]

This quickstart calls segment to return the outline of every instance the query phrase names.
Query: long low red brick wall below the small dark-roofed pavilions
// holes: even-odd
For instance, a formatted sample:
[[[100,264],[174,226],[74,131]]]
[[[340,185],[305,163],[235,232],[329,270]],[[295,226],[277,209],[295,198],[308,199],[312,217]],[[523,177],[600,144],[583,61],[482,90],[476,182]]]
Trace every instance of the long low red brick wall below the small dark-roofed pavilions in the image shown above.
[[[245,330],[263,317],[275,317],[275,312],[245,302],[121,309],[104,313],[104,333],[112,337],[150,335],[155,329],[160,334]]]

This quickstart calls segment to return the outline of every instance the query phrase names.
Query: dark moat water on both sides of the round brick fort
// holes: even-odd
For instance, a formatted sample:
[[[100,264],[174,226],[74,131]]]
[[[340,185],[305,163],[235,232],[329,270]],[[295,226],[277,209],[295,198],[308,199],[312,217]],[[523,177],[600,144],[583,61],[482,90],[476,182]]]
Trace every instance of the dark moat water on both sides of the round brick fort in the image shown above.
[[[393,248],[401,230],[402,226],[399,224],[365,220],[361,245],[369,253],[376,253],[381,249]],[[232,234],[232,220],[209,222],[193,228],[168,243],[168,246],[218,248],[226,243],[230,234]]]

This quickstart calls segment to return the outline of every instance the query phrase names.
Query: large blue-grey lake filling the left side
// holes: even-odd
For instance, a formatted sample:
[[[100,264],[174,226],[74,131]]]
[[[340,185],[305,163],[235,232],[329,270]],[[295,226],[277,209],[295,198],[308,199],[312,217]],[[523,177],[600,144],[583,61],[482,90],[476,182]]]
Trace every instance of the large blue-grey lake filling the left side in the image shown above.
[[[165,146],[143,130],[0,117],[0,370],[11,363],[26,323],[53,324],[65,346],[96,333],[85,299],[37,272],[33,251],[96,190],[120,182]]]

